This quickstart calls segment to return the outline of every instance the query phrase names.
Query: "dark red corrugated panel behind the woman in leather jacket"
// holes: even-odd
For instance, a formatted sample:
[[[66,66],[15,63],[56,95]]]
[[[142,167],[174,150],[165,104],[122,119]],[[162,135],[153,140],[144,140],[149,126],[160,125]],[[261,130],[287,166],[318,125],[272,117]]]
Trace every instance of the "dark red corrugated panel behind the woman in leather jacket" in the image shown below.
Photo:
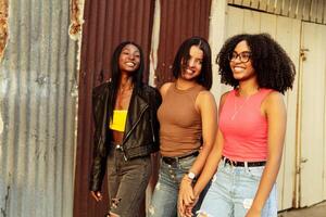
[[[78,136],[75,173],[74,216],[104,216],[108,195],[101,203],[89,196],[88,176],[92,156],[91,89],[110,78],[115,47],[131,40],[139,43],[149,63],[154,0],[86,0],[78,98]],[[148,81],[148,69],[145,81]],[[105,181],[103,182],[105,183]],[[106,192],[104,187],[103,192]]]

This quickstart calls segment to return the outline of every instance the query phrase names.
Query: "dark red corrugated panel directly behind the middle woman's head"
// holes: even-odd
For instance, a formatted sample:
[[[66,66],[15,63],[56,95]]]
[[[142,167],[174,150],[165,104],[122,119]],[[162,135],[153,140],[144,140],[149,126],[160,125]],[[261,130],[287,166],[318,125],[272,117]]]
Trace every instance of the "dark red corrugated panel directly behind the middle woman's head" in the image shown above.
[[[160,42],[155,82],[172,79],[172,64],[181,42],[191,36],[209,38],[211,0],[161,0]]]

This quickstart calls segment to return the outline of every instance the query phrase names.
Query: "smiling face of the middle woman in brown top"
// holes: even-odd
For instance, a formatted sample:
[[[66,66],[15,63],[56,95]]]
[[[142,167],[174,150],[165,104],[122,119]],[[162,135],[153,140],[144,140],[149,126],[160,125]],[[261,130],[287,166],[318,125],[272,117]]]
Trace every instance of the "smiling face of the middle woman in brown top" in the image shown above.
[[[203,51],[198,46],[192,46],[189,50],[189,60],[183,64],[180,77],[185,80],[196,79],[202,67]]]

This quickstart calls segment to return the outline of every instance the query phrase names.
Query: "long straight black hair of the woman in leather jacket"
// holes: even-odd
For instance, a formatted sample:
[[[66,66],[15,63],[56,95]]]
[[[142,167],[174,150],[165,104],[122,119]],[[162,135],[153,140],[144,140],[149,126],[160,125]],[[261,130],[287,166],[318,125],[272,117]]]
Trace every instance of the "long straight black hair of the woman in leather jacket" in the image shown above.
[[[121,80],[121,71],[118,66],[118,59],[120,54],[122,53],[122,50],[127,46],[127,44],[133,44],[138,48],[139,53],[140,53],[140,63],[139,67],[133,73],[133,85],[134,85],[134,90],[133,91],[138,91],[139,88],[142,86],[142,75],[143,75],[143,68],[145,68],[145,63],[143,63],[143,53],[140,48],[135,42],[131,41],[124,41],[120,43],[116,49],[113,52],[112,59],[111,59],[111,72],[112,72],[112,77],[111,77],[111,91],[109,95],[109,105],[108,105],[108,114],[109,118],[112,119],[113,117],[113,110],[116,101],[116,94],[117,94],[117,89]]]

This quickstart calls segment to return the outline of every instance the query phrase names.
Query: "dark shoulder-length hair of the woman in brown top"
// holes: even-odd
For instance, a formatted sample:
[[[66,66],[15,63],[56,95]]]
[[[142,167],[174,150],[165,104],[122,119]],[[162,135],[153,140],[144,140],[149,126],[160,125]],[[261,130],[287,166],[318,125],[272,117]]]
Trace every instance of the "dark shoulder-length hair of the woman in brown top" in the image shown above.
[[[212,87],[212,52],[209,42],[201,37],[191,37],[185,40],[179,47],[173,63],[173,76],[177,79],[185,67],[181,62],[188,64],[190,59],[189,52],[192,46],[199,47],[203,52],[201,73],[197,77],[197,82],[202,85],[208,90]]]

